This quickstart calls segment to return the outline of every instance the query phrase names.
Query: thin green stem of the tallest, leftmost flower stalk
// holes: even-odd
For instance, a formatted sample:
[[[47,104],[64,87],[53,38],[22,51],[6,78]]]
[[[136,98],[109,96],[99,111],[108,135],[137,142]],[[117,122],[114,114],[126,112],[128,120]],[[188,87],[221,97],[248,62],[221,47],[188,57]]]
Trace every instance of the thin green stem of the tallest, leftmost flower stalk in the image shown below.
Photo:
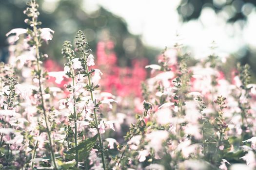
[[[34,6],[32,6],[32,8],[34,8]],[[34,26],[33,26],[33,31],[34,31],[34,34],[35,34],[35,37],[34,37],[34,40],[36,42],[36,57],[37,57],[37,74],[38,74],[38,79],[39,79],[39,92],[40,92],[40,97],[41,97],[41,107],[42,107],[42,110],[43,110],[43,116],[44,116],[44,121],[45,121],[45,124],[46,124],[46,132],[47,132],[47,135],[48,135],[48,140],[49,140],[49,143],[50,143],[50,151],[51,151],[51,157],[52,157],[52,162],[54,164],[54,169],[57,170],[57,164],[55,162],[55,154],[54,154],[54,148],[53,148],[53,145],[52,145],[52,138],[51,138],[51,132],[50,132],[50,128],[49,128],[49,125],[48,125],[48,121],[47,121],[47,115],[46,115],[46,109],[44,107],[44,100],[43,100],[43,93],[42,93],[42,85],[41,85],[41,68],[40,68],[40,64],[39,64],[39,39],[38,39],[38,30],[37,30],[37,21],[35,20],[35,17],[32,18],[33,20],[33,23],[34,23]]]

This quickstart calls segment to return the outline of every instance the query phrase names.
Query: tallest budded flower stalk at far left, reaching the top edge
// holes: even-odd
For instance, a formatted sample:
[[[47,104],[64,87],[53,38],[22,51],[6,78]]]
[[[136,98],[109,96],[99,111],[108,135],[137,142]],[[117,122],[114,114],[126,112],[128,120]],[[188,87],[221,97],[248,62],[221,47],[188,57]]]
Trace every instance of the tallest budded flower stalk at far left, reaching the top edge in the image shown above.
[[[55,153],[54,153],[54,147],[52,143],[52,138],[51,138],[51,128],[49,127],[48,123],[48,118],[47,118],[47,113],[46,113],[46,108],[45,108],[45,103],[44,103],[44,98],[43,98],[43,87],[42,87],[42,79],[46,75],[43,73],[42,68],[41,68],[41,63],[43,60],[44,55],[39,55],[39,47],[41,46],[41,38],[40,38],[40,28],[39,25],[41,25],[41,22],[38,21],[38,7],[39,5],[36,3],[36,0],[31,0],[30,2],[27,3],[29,7],[24,11],[24,13],[29,17],[29,19],[26,19],[25,22],[30,25],[33,29],[28,30],[28,34],[30,34],[31,41],[29,42],[30,45],[32,45],[35,50],[36,50],[36,69],[35,69],[35,76],[38,79],[39,83],[39,96],[40,96],[40,104],[39,104],[39,109],[42,110],[45,125],[46,125],[46,132],[48,135],[48,140],[49,140],[49,147],[50,147],[50,152],[51,152],[51,160],[54,165],[54,168],[57,170],[57,164],[55,161]],[[37,147],[37,146],[35,146]]]

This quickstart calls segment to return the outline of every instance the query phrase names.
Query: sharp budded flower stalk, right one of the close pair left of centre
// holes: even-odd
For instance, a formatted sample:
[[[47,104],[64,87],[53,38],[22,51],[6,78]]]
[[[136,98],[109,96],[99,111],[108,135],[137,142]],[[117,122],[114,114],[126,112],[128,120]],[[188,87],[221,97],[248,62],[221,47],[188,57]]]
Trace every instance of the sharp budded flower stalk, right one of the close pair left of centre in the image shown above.
[[[99,152],[101,154],[101,160],[102,160],[102,165],[103,165],[103,169],[107,170],[106,167],[106,163],[105,163],[105,158],[104,158],[104,148],[103,148],[103,143],[102,143],[102,139],[100,136],[100,132],[99,132],[99,123],[98,123],[98,117],[97,117],[97,113],[96,113],[96,108],[99,106],[100,102],[96,102],[96,100],[93,97],[93,91],[95,89],[97,89],[99,87],[99,85],[94,85],[91,81],[91,75],[95,72],[94,69],[91,69],[89,71],[88,66],[91,66],[91,62],[90,60],[92,59],[92,54],[91,54],[91,49],[88,49],[88,43],[85,42],[85,35],[83,34],[82,31],[78,31],[78,36],[76,36],[77,38],[77,49],[76,51],[82,55],[82,58],[80,58],[81,64],[83,69],[80,71],[80,74],[83,74],[84,77],[88,78],[88,84],[85,86],[86,90],[90,92],[90,96],[91,96],[91,100],[94,104],[94,109],[93,109],[93,113],[94,113],[94,127],[97,129],[97,133],[98,133],[98,142],[99,142]],[[86,50],[87,49],[87,50]]]

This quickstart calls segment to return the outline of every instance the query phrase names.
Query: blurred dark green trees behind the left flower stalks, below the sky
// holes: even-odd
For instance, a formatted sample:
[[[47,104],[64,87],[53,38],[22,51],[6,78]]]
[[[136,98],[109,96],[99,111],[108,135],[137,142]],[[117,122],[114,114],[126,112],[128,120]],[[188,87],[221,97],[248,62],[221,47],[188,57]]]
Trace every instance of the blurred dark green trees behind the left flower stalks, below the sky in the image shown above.
[[[26,18],[23,10],[27,0],[0,0],[0,60],[5,61],[8,56],[8,43],[5,34],[14,28],[26,28]],[[54,0],[55,1],[55,0]],[[120,66],[129,66],[131,59],[147,57],[151,61],[158,54],[158,50],[143,46],[140,37],[130,34],[125,21],[108,12],[104,8],[87,14],[82,9],[83,0],[59,0],[56,4],[46,1],[47,6],[39,3],[39,20],[42,28],[51,28],[55,31],[48,46],[42,47],[49,57],[61,63],[61,48],[65,40],[74,42],[74,35],[78,30],[85,32],[90,48],[96,52],[98,41],[112,40]],[[56,6],[51,6],[56,5]],[[126,42],[126,43],[124,43]],[[129,48],[129,46],[133,48]],[[132,49],[132,50],[131,50]]]

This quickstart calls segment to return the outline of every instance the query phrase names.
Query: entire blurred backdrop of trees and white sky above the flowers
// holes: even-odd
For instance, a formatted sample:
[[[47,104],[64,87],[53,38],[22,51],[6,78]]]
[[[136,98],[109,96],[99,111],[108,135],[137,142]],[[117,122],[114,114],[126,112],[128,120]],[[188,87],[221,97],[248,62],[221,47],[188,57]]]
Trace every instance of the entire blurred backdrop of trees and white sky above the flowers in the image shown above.
[[[23,10],[27,0],[0,0],[0,60],[6,61],[5,34],[26,28]],[[42,28],[56,31],[43,47],[61,63],[64,40],[74,42],[85,32],[93,51],[112,42],[119,67],[152,64],[179,34],[196,59],[207,57],[211,42],[220,57],[251,65],[256,72],[256,0],[38,0]],[[101,42],[101,44],[98,44]],[[103,44],[102,44],[103,43]],[[106,45],[107,46],[107,45]]]

